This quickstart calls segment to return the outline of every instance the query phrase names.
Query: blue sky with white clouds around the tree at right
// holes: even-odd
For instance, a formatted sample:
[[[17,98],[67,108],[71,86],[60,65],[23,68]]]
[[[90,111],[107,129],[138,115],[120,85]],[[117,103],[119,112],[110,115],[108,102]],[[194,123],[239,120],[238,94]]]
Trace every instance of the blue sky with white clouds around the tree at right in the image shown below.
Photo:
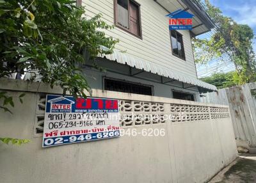
[[[225,16],[232,17],[239,24],[248,24],[256,35],[256,0],[210,0],[220,8]],[[203,35],[205,36],[205,35]],[[206,35],[207,36],[207,35]],[[256,52],[256,40],[253,43]],[[198,77],[210,76],[213,72],[228,72],[234,70],[232,63],[220,63],[215,60],[207,65],[197,65]]]

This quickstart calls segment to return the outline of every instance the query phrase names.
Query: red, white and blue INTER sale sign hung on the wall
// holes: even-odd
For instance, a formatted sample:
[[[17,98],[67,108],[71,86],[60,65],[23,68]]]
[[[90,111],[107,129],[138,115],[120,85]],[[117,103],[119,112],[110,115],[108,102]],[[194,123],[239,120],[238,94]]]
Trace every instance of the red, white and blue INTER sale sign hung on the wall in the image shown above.
[[[47,95],[43,147],[120,136],[118,100]]]

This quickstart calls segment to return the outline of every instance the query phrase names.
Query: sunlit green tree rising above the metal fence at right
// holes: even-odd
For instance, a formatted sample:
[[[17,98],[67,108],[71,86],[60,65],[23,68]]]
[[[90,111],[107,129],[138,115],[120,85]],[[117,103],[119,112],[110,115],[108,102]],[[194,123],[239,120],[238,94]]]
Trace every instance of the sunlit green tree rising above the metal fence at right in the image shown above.
[[[256,81],[256,61],[252,47],[255,36],[252,28],[224,16],[209,0],[205,0],[204,6],[218,28],[209,39],[193,39],[196,63],[229,60],[236,66],[233,77],[236,84]]]

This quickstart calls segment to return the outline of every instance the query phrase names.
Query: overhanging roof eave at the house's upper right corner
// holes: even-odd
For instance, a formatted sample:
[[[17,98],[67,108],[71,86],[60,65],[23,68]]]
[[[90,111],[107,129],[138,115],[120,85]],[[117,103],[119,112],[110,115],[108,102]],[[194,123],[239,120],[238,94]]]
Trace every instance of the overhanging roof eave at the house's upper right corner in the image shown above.
[[[177,10],[195,15],[193,19],[192,36],[201,35],[214,28],[214,24],[209,16],[204,13],[203,8],[196,1],[192,0],[154,0],[162,6],[166,12],[174,13]],[[180,18],[180,17],[179,17]]]

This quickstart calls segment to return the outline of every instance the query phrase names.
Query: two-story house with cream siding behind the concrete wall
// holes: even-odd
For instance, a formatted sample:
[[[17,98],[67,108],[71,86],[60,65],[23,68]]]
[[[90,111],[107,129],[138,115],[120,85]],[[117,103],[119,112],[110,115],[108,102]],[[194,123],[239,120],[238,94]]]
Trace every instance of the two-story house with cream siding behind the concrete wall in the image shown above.
[[[102,13],[114,24],[106,35],[118,38],[115,52],[97,60],[107,72],[84,66],[92,88],[183,100],[216,90],[198,80],[191,37],[210,31],[211,20],[202,8],[186,0],[83,0],[86,15]],[[193,29],[170,31],[168,13],[185,10],[195,15]]]

